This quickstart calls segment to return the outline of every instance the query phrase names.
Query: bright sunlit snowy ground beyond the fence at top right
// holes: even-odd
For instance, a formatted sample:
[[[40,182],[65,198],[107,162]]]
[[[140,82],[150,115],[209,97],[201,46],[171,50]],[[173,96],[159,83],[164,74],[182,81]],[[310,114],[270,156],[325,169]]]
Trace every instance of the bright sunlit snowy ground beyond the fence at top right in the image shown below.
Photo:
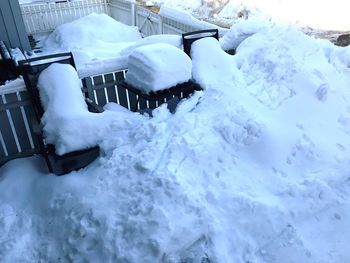
[[[139,1],[186,10],[196,17],[232,24],[240,17],[267,17],[322,30],[350,30],[347,0],[154,0]]]

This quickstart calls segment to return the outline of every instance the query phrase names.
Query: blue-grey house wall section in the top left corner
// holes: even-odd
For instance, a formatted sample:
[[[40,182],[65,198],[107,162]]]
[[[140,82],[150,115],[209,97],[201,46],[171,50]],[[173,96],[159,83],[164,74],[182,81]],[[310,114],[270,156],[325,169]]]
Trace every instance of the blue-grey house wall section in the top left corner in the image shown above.
[[[17,0],[0,0],[0,39],[8,47],[31,50]]]

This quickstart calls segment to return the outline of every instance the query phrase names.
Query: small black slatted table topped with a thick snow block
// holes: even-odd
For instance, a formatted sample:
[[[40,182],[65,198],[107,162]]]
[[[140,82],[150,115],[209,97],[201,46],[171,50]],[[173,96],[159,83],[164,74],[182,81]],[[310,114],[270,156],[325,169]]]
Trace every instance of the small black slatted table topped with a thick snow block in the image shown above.
[[[168,104],[174,112],[181,99],[201,87],[191,81],[191,59],[179,48],[165,43],[136,48],[128,60],[128,72],[119,88],[128,93],[132,111],[147,111]]]

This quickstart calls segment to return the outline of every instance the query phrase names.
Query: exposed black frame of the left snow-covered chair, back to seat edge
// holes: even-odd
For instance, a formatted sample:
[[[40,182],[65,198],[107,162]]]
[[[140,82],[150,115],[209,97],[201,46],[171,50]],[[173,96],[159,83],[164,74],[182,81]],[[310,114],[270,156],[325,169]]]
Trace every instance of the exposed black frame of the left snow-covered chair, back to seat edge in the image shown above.
[[[38,138],[40,152],[45,158],[49,171],[56,175],[63,175],[87,166],[99,156],[100,149],[96,146],[86,150],[57,155],[55,153],[55,146],[45,142],[45,136],[40,127],[40,120],[44,114],[44,109],[41,105],[37,83],[40,73],[52,63],[70,64],[75,68],[72,53],[61,53],[22,60],[19,61],[19,66],[35,112],[35,119],[31,120],[31,125]],[[89,99],[86,100],[86,103],[91,112],[98,113],[103,111],[101,107],[92,103]]]

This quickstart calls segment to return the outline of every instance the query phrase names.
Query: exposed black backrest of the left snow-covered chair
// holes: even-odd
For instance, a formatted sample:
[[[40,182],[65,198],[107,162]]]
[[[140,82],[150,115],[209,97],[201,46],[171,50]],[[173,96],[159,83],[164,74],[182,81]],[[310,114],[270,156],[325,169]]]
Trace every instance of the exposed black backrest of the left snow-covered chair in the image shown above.
[[[73,54],[71,52],[35,57],[18,62],[21,69],[21,74],[23,75],[24,82],[33,102],[35,115],[38,121],[40,121],[44,114],[44,109],[41,105],[39,90],[37,87],[39,75],[44,69],[53,63],[70,64],[76,68]]]

